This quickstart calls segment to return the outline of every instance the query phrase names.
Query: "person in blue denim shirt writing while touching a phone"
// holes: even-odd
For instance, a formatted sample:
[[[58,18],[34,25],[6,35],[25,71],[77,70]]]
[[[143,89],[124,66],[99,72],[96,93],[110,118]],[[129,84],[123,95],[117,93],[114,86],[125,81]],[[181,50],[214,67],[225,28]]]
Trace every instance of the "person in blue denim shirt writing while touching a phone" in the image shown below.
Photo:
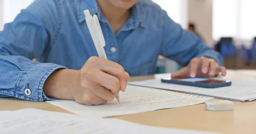
[[[99,17],[109,60],[97,57],[87,9]],[[99,105],[130,76],[154,74],[159,55],[183,66],[172,77],[226,75],[220,54],[151,0],[36,0],[0,32],[0,97]]]

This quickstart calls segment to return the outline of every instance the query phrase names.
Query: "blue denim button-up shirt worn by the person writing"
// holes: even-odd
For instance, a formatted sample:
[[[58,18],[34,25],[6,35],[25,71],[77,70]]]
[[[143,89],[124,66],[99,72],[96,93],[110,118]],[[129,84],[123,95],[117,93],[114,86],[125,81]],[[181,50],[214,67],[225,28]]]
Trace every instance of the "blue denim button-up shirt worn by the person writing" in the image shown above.
[[[47,77],[60,68],[79,70],[90,56],[97,56],[84,20],[86,9],[99,17],[108,59],[131,76],[154,74],[159,55],[182,66],[201,56],[222,64],[219,53],[183,30],[151,0],[140,0],[116,34],[96,0],[36,0],[0,32],[0,97],[53,100],[43,92]]]

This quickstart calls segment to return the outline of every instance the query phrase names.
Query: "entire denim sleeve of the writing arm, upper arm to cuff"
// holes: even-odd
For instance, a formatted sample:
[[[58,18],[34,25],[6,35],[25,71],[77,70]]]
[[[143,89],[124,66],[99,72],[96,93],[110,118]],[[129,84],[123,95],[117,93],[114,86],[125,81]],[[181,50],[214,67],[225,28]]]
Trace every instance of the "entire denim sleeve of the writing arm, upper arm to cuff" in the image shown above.
[[[0,31],[0,97],[54,100],[44,95],[44,82],[52,72],[66,67],[31,59],[55,44],[59,13],[57,0],[36,0]]]

